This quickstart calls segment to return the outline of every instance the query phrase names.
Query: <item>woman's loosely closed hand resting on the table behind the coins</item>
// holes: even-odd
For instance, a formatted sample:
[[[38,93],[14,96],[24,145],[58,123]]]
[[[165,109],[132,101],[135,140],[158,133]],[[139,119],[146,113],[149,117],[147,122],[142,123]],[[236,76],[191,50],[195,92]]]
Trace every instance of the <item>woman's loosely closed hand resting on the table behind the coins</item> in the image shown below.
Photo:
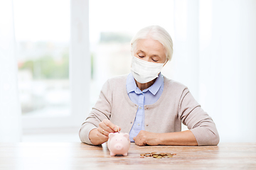
[[[154,132],[146,132],[141,130],[139,134],[134,137],[134,142],[136,145],[159,145],[159,134]]]

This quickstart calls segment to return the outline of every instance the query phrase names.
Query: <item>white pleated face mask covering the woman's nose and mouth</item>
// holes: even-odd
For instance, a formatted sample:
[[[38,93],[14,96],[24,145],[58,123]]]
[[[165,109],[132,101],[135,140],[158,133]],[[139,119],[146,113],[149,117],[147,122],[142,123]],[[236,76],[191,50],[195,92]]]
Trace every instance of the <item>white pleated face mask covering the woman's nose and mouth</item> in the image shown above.
[[[145,84],[156,79],[163,67],[164,63],[146,62],[138,57],[133,57],[131,72],[134,79],[141,84]]]

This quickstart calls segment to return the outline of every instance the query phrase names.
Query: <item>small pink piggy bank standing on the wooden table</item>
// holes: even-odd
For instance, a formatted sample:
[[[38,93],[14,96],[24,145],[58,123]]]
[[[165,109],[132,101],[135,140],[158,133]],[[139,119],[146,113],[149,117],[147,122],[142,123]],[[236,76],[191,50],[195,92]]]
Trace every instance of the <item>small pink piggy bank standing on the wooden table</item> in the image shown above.
[[[115,156],[116,154],[127,156],[130,144],[131,142],[129,140],[128,133],[110,133],[109,140],[107,141],[107,147],[110,150],[110,156]]]

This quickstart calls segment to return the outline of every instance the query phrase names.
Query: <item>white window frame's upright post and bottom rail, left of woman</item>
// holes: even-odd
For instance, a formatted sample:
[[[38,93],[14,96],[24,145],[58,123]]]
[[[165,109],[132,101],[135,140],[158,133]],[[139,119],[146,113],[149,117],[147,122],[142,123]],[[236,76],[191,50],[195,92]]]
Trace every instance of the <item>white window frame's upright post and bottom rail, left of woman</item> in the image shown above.
[[[70,0],[70,114],[23,115],[23,132],[42,128],[79,128],[90,108],[89,0]]]

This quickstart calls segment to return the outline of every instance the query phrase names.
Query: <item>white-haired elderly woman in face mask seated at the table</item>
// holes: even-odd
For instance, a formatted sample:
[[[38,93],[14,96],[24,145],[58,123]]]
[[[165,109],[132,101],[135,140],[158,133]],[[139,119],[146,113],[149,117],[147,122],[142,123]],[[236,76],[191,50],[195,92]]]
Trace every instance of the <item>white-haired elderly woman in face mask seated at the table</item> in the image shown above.
[[[136,145],[218,145],[213,120],[188,88],[161,74],[172,53],[164,28],[139,30],[132,39],[131,73],[107,80],[80,128],[80,140],[100,145],[120,130]],[[181,132],[181,123],[189,130]]]

